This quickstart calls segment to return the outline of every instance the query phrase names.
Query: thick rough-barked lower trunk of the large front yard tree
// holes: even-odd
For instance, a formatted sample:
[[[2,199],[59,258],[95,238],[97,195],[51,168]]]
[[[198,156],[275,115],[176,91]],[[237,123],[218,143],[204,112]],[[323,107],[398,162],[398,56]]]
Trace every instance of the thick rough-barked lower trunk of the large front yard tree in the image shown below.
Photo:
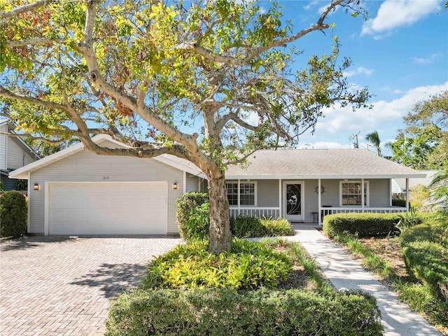
[[[225,176],[223,173],[211,174],[209,178],[210,199],[210,253],[219,254],[230,251],[230,218]]]

